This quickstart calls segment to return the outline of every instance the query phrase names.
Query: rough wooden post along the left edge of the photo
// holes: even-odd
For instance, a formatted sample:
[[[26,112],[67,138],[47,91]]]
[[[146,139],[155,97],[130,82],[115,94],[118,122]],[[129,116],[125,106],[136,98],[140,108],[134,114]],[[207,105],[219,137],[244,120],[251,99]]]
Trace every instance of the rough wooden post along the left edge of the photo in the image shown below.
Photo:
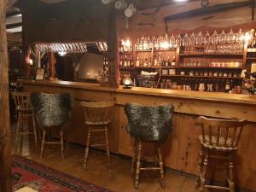
[[[12,191],[6,3],[6,0],[0,0],[0,192]]]

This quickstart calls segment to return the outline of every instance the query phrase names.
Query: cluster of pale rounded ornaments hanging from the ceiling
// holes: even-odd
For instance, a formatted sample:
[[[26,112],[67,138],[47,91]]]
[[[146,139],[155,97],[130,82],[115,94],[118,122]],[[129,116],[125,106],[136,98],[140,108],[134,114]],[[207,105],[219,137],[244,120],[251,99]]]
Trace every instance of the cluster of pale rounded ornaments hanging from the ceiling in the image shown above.
[[[125,16],[127,18],[130,18],[132,15],[135,15],[137,12],[137,9],[135,8],[133,3],[128,3],[125,0],[102,0],[103,4],[109,4],[114,2],[114,7],[116,9],[125,9]]]

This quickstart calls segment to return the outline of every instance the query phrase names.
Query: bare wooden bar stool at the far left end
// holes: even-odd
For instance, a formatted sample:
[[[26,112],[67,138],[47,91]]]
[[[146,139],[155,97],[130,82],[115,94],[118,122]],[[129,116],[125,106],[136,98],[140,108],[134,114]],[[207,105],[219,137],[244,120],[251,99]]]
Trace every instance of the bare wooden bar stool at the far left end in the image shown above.
[[[16,136],[15,136],[16,145],[19,143],[20,136],[26,135],[26,134],[33,134],[35,138],[35,143],[36,145],[38,145],[36,123],[35,123],[32,106],[30,104],[30,93],[17,91],[17,92],[13,92],[13,96],[15,99],[15,108],[18,113],[18,122],[17,122],[17,128],[16,128]],[[29,118],[32,118],[33,131],[23,129],[24,120],[27,119],[27,122],[28,122]]]

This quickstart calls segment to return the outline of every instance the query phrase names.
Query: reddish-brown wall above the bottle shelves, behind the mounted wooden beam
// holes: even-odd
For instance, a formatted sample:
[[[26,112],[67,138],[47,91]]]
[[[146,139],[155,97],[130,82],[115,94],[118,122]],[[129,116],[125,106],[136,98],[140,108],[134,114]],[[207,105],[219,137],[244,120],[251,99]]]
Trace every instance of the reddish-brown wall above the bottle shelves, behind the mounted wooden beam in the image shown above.
[[[243,0],[210,0],[208,6],[214,6],[219,3],[234,3],[242,2]],[[164,17],[168,15],[175,15],[183,13],[193,9],[200,9],[201,2],[185,2],[185,3],[172,3],[165,7],[162,7],[154,15],[143,15],[143,13],[152,13],[155,9],[144,9],[137,12],[137,15],[132,16],[129,19],[129,28],[125,28],[125,16],[123,13],[120,15],[119,20],[119,36],[121,38],[136,38],[147,35],[164,35],[166,33],[166,22]],[[154,26],[144,26],[139,24],[152,23]],[[252,9],[249,7],[241,7],[237,9],[228,9],[223,12],[217,12],[216,14],[201,15],[190,17],[187,19],[171,20],[167,22],[167,28],[169,34],[178,34],[184,32],[213,32],[226,28],[226,32],[230,31],[230,28],[237,31],[242,29],[255,28],[256,22],[252,20]]]

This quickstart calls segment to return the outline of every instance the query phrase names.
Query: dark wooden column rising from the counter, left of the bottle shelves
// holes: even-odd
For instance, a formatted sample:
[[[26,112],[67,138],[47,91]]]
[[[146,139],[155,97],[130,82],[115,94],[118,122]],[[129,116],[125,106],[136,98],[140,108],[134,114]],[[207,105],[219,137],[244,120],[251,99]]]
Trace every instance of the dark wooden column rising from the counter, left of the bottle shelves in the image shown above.
[[[109,84],[111,87],[118,86],[117,70],[117,12],[116,9],[110,11],[108,17],[108,61],[109,61]]]

